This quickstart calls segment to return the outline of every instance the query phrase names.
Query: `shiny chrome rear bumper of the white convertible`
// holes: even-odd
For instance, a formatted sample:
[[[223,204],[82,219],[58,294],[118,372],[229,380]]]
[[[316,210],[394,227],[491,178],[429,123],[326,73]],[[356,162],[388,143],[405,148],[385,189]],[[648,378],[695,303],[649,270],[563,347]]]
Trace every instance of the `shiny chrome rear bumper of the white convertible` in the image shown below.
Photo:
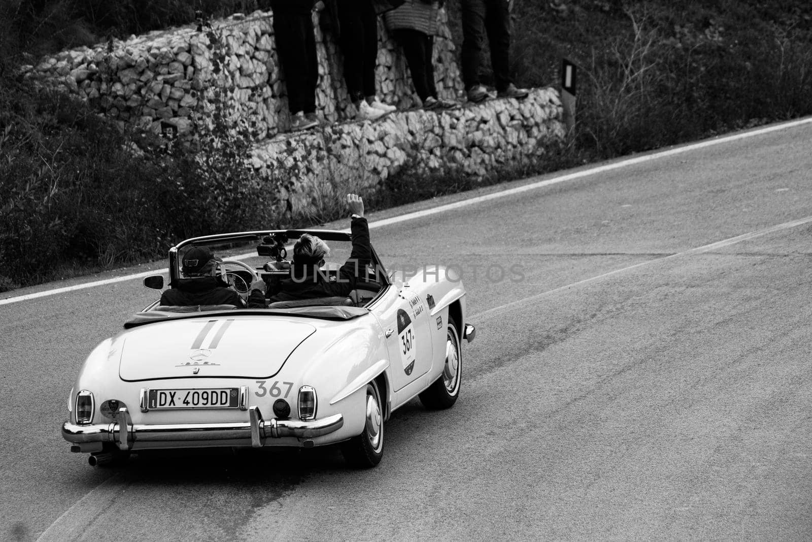
[[[148,443],[158,442],[248,439],[254,448],[260,448],[269,438],[294,436],[309,439],[337,431],[344,424],[341,414],[309,422],[276,418],[265,420],[257,406],[248,409],[248,422],[133,424],[126,407],[119,409],[118,414],[119,421],[112,423],[76,425],[65,422],[62,436],[74,444],[114,442],[123,450],[150,448]]]

